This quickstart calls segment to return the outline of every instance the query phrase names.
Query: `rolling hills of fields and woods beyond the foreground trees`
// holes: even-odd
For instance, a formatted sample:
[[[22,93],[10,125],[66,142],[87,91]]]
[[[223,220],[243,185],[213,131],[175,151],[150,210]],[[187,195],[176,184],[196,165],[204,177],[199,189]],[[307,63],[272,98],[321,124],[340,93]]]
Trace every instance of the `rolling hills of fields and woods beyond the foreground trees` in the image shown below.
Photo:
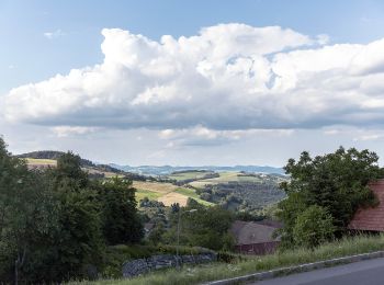
[[[56,167],[56,160],[63,153],[52,150],[34,151],[18,157],[26,159],[30,168],[44,169]],[[94,179],[115,175],[129,178],[137,190],[137,202],[148,197],[162,202],[166,206],[173,203],[185,205],[188,198],[193,198],[206,206],[221,204],[231,209],[260,209],[284,197],[278,185],[286,180],[286,176],[280,174],[282,169],[270,167],[133,168],[98,164],[87,159],[81,159],[81,166]],[[264,173],[266,171],[278,173]]]

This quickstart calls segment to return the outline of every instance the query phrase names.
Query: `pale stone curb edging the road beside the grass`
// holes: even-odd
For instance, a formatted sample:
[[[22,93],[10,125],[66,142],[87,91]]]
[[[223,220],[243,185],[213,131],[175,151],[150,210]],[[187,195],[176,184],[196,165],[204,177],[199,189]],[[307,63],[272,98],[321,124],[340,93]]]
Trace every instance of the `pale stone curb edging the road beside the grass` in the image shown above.
[[[363,260],[371,260],[371,259],[379,259],[379,258],[384,258],[384,251],[375,251],[371,253],[362,253],[362,254],[350,255],[345,258],[318,261],[314,263],[306,263],[301,265],[270,270],[266,272],[252,273],[252,274],[228,278],[228,280],[213,281],[204,284],[205,285],[227,285],[227,284],[239,284],[245,282],[256,282],[256,281],[262,281],[262,280],[270,280],[273,277],[280,277],[292,273],[313,271],[313,270],[329,267],[338,264],[347,264],[347,263],[352,263],[352,262],[358,262]]]

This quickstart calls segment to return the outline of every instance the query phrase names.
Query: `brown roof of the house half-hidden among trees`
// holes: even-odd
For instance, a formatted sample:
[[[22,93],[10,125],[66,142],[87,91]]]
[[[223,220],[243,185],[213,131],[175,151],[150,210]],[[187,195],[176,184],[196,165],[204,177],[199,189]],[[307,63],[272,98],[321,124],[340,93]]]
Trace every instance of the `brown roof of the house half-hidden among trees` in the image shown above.
[[[236,220],[231,227],[230,232],[236,239],[236,244],[255,244],[278,241],[273,239],[272,233],[276,227],[260,225],[255,221]]]

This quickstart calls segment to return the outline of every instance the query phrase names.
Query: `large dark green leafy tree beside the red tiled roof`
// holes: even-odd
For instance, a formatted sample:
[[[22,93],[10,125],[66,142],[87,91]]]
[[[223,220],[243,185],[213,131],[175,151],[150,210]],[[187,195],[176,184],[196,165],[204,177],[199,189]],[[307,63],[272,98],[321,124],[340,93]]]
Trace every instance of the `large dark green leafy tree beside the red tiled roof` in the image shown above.
[[[314,218],[315,208],[306,212],[312,206],[319,206],[328,213],[327,223],[331,220],[336,237],[341,236],[358,207],[376,203],[368,183],[383,176],[377,160],[376,153],[369,150],[346,150],[342,147],[325,156],[312,158],[304,151],[298,161],[290,159],[284,169],[291,181],[281,184],[287,198],[279,204],[279,217],[284,223],[280,232],[283,247],[303,243],[297,232],[304,225],[309,227],[310,220],[305,219]],[[321,230],[313,227],[310,235],[321,235]],[[330,239],[334,235],[325,237]]]

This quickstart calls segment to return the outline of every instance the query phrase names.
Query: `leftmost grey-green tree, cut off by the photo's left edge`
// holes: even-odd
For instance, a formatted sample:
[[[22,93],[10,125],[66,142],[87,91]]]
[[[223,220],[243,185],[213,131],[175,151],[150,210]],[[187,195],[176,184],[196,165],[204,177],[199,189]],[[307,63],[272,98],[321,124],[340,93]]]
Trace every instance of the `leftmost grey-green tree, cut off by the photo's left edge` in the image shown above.
[[[56,203],[42,175],[29,171],[0,138],[0,280],[18,284],[57,226]]]

